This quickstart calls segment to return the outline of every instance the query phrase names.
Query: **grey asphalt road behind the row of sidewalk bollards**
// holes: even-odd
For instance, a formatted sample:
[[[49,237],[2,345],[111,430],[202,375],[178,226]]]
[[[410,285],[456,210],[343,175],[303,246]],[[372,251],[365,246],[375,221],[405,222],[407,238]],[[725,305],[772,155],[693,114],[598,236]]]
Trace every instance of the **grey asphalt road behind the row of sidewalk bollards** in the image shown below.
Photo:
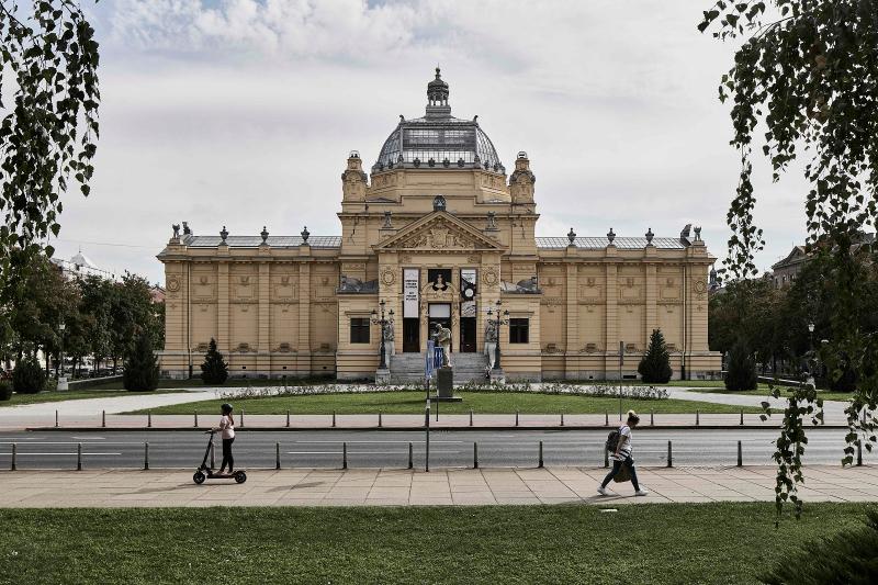
[[[607,434],[577,430],[437,431],[430,432],[430,465],[472,466],[473,442],[479,443],[481,466],[536,466],[539,441],[543,441],[545,465],[601,465]],[[843,429],[810,429],[806,463],[838,463],[844,448]],[[236,468],[273,468],[275,442],[283,468],[341,466],[342,442],[347,442],[350,468],[405,468],[408,445],[414,464],[425,461],[424,431],[238,431],[234,453]],[[744,464],[772,464],[775,430],[649,430],[634,431],[634,460],[641,465],[665,465],[667,441],[673,441],[675,466],[734,465],[738,441]],[[2,432],[0,469],[9,469],[12,443],[16,466],[26,469],[76,469],[77,445],[82,445],[85,469],[144,465],[144,442],[149,442],[150,468],[194,468],[204,457],[207,436],[199,431],[113,432]],[[216,463],[222,459],[216,446]],[[864,449],[864,462],[878,463],[878,453]]]

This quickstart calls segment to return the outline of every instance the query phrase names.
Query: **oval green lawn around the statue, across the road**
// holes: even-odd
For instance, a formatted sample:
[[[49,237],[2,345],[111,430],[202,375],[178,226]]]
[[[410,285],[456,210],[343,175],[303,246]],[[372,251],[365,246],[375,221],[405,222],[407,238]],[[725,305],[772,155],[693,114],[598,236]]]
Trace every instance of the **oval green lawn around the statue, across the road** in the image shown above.
[[[476,414],[514,414],[516,410],[530,414],[588,414],[619,412],[618,398],[571,396],[558,394],[539,394],[536,392],[460,392],[463,402],[442,403],[439,406],[444,414],[468,414],[472,409]],[[317,394],[309,396],[264,396],[230,401],[236,412],[248,414],[278,415],[286,410],[295,414],[423,414],[424,392],[369,392],[358,394]],[[179,404],[154,408],[153,414],[215,414],[226,400],[211,400],[189,404]],[[434,408],[435,408],[434,403]],[[661,413],[740,413],[738,406],[709,404],[677,400],[622,400],[624,410],[634,409],[649,415],[650,410]],[[434,410],[435,412],[435,410]],[[744,408],[745,413],[761,413],[762,408]],[[138,410],[136,414],[145,414]]]

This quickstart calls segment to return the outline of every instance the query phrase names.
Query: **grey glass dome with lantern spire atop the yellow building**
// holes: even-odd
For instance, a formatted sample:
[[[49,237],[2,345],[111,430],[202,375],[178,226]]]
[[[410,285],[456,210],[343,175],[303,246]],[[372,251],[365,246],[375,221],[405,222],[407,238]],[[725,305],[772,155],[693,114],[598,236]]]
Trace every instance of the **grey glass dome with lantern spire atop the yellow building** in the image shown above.
[[[436,79],[427,85],[424,117],[406,120],[391,133],[372,172],[393,168],[475,168],[504,175],[506,168],[494,144],[479,126],[477,117],[461,120],[451,115],[448,83],[436,68]]]

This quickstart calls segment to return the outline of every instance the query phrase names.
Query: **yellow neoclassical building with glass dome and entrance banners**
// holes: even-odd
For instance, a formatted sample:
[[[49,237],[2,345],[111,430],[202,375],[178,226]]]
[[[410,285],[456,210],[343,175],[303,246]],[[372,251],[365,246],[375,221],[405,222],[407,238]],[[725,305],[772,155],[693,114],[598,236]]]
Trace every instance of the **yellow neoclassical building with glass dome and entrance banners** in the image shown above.
[[[527,154],[507,175],[479,121],[453,117],[448,98],[437,69],[425,115],[401,116],[371,173],[350,154],[340,236],[175,226],[158,255],[162,372],[198,374],[213,337],[232,375],[375,379],[383,330],[390,378],[410,380],[440,324],[452,331],[455,381],[484,375],[495,338],[507,379],[615,379],[620,350],[631,376],[653,329],[675,378],[718,373],[707,335],[714,258],[700,229],[537,237]]]

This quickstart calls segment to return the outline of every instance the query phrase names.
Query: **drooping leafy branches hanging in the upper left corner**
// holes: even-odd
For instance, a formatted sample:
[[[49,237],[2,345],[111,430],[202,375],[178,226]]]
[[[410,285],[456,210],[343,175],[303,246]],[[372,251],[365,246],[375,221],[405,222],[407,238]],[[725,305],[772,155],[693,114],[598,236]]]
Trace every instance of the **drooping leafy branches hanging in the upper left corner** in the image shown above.
[[[2,290],[15,249],[35,255],[58,235],[71,177],[89,194],[100,93],[98,43],[77,0],[0,0],[0,88],[12,89],[9,102],[0,92]]]

